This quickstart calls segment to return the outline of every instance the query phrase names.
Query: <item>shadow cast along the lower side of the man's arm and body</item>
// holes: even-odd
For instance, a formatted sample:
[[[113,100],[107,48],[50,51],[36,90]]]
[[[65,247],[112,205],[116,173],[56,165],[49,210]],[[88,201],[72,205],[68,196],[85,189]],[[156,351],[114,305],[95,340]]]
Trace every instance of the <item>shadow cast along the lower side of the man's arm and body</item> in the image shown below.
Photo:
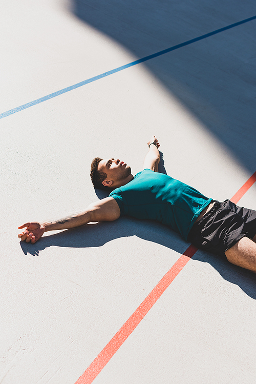
[[[180,255],[189,246],[189,243],[185,242],[180,235],[155,221],[122,217],[111,223],[89,224],[50,236],[43,236],[34,245],[20,241],[20,247],[25,255],[38,256],[40,251],[51,246],[68,248],[101,247],[106,242],[116,238],[134,235],[175,250]],[[157,257],[161,256],[158,255]],[[208,262],[225,280],[238,285],[248,296],[256,299],[256,274],[233,266],[218,256],[202,251],[196,252],[193,259]]]

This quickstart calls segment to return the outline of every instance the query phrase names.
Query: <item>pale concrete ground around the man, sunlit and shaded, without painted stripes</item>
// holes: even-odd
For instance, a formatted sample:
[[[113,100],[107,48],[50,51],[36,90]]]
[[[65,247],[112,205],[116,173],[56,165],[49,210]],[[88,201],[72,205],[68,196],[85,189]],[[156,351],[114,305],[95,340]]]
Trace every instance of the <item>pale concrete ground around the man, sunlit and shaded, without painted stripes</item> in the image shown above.
[[[10,0],[1,113],[256,14],[252,0]],[[256,171],[256,20],[1,119],[1,384],[74,384],[189,244],[157,223],[17,239],[28,220],[101,198],[95,156],[141,170],[155,134],[168,174],[218,200]],[[256,209],[256,185],[239,205]],[[255,380],[255,275],[198,251],[94,383]]]

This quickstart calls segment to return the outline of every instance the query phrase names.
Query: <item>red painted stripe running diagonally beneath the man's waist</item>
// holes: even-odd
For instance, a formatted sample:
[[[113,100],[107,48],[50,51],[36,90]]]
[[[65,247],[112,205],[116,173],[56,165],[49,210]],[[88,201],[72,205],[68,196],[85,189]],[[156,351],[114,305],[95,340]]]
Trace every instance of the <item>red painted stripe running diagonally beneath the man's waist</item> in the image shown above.
[[[230,199],[233,203],[241,199],[241,197],[248,191],[248,189],[256,181],[256,172],[246,181],[240,190]],[[185,267],[191,257],[197,252],[197,248],[190,245],[187,250],[175,262],[172,268],[163,276],[158,282],[151,293],[142,301],[141,305],[136,309],[132,316],[125,322],[119,329],[110,342],[102,349],[98,356],[93,360],[87,370],[79,377],[75,384],[91,384],[96,376],[102,371],[105,365],[110,361],[114,354],[121,347],[123,342],[131,335],[135,328],[139,325],[140,321],[147,314],[147,312],[154,306],[155,302],[160,298],[163,292],[169,287],[170,283]]]

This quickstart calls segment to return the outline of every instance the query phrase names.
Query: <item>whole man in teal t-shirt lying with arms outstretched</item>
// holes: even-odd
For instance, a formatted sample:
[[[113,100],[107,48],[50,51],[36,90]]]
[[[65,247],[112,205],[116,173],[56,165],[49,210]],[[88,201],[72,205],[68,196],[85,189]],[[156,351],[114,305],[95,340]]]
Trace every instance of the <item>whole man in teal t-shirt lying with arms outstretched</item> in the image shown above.
[[[143,170],[135,176],[119,159],[96,157],[91,165],[95,188],[109,197],[79,213],[44,222],[26,223],[18,235],[34,244],[45,232],[113,221],[121,215],[153,219],[180,233],[199,249],[226,256],[232,264],[256,272],[256,211],[229,200],[220,203],[168,175],[158,173],[159,143],[152,136]]]

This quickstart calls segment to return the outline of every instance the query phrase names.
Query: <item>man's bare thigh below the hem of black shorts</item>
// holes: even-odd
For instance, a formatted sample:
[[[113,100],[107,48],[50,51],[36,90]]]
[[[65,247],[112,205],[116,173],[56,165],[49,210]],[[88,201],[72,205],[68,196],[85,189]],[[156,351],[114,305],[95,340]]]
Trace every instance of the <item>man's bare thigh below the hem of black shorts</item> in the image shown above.
[[[225,254],[232,264],[256,272],[256,235],[250,240],[248,237],[241,238]]]

